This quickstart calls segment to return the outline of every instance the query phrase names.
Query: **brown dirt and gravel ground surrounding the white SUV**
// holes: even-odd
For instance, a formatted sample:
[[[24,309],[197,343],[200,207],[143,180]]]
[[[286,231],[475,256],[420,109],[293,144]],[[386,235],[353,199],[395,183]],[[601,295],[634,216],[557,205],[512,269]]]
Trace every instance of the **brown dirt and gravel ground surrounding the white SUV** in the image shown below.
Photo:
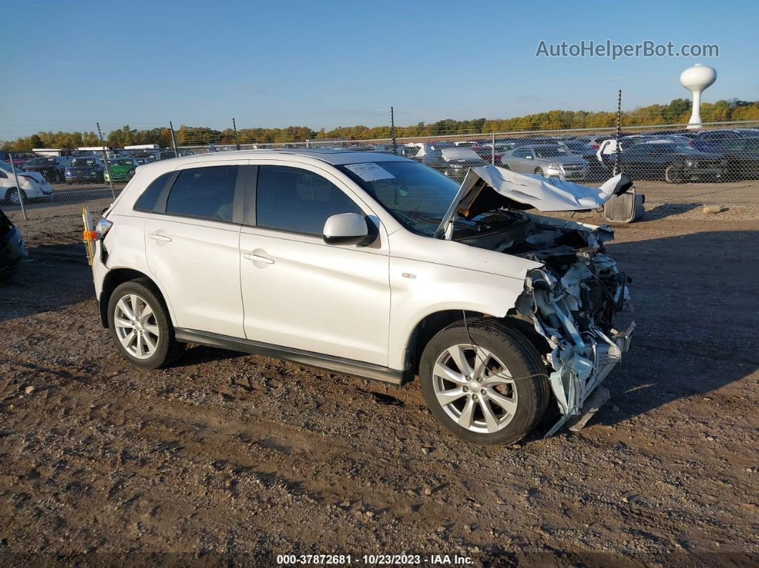
[[[757,185],[638,184],[647,221],[609,247],[638,322],[612,400],[577,434],[497,449],[442,431],[417,382],[205,347],[128,366],[77,206],[33,210],[33,260],[0,288],[0,560],[755,564]]]

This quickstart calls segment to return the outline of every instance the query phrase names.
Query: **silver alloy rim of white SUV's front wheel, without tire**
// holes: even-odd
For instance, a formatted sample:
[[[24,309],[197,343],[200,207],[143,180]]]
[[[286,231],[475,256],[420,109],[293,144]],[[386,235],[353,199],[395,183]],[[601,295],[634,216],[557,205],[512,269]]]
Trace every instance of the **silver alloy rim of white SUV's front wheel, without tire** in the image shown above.
[[[509,369],[483,347],[459,344],[440,353],[433,367],[433,389],[442,410],[478,434],[505,428],[517,410]]]

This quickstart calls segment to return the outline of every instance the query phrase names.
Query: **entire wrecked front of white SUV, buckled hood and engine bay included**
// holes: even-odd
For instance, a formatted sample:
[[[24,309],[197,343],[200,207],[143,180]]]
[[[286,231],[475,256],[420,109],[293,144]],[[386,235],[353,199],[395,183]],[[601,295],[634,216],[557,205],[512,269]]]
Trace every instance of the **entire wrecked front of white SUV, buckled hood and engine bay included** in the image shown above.
[[[549,381],[562,419],[546,438],[563,425],[582,428],[606,402],[608,391],[598,387],[628,350],[635,322],[624,331],[613,322],[618,312],[631,312],[630,279],[604,249],[613,230],[525,211],[588,211],[630,187],[627,174],[594,188],[495,166],[471,168],[436,231],[438,238],[540,263],[527,272],[511,315],[532,322],[548,344]]]

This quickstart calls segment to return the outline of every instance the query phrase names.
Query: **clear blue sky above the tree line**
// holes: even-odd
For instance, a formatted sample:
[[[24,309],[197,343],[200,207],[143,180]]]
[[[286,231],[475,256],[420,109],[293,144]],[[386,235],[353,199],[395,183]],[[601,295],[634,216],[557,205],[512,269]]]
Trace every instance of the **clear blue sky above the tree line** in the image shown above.
[[[0,140],[129,124],[313,128],[759,99],[759,2],[4,3]],[[540,40],[717,44],[718,58],[536,58]]]

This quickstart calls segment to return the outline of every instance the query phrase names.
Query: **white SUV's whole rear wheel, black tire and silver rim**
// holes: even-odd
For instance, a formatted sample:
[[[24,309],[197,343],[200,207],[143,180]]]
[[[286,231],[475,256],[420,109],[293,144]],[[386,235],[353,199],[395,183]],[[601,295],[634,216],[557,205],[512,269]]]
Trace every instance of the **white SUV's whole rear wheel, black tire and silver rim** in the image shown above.
[[[143,369],[167,366],[184,352],[165,304],[146,278],[116,287],[108,303],[108,326],[124,359]]]

